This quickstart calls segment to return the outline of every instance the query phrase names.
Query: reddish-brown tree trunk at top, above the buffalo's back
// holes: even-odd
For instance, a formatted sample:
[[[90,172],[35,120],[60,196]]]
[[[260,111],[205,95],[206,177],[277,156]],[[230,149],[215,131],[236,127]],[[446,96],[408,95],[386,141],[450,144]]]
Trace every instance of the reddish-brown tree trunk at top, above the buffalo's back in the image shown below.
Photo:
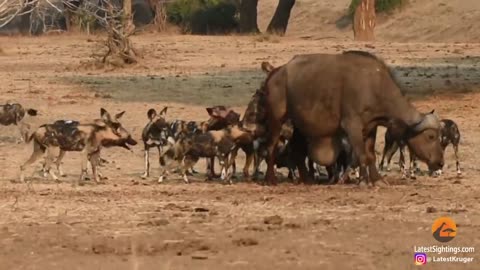
[[[357,41],[374,41],[375,0],[362,0],[353,18],[353,37]]]

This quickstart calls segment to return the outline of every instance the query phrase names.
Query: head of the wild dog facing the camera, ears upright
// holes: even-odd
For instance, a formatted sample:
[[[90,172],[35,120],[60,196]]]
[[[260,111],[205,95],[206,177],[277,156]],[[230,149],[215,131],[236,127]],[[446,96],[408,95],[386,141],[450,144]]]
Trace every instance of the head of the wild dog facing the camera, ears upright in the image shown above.
[[[146,145],[166,145],[169,136],[172,136],[169,123],[165,120],[168,107],[164,107],[159,113],[155,109],[147,112],[148,124],[142,132],[142,140]]]

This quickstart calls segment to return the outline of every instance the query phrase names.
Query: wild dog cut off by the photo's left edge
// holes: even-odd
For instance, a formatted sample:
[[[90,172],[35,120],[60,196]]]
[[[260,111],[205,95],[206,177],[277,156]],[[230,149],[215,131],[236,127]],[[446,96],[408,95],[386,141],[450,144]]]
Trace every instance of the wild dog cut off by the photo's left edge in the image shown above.
[[[26,109],[19,103],[7,102],[0,105],[0,124],[4,126],[15,125],[19,127],[20,141],[26,141],[30,125],[22,120],[25,113],[30,116],[36,116],[37,110]]]

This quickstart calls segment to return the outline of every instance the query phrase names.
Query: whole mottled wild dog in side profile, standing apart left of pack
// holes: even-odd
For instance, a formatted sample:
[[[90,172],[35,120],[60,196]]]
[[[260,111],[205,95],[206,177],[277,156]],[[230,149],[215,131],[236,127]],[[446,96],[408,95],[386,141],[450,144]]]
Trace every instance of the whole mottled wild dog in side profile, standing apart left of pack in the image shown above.
[[[33,140],[33,153],[30,158],[20,166],[20,181],[24,182],[24,171],[27,166],[34,163],[38,158],[47,153],[45,168],[53,179],[58,180],[51,164],[54,162],[54,150],[80,151],[82,152],[82,164],[80,181],[84,179],[87,163],[92,165],[93,179],[98,183],[97,166],[100,161],[100,150],[103,147],[119,146],[130,149],[137,142],[118,121],[125,112],[115,115],[114,118],[103,108],[100,114],[103,121],[95,121],[90,124],[56,122],[40,126],[29,138]],[[58,160],[58,159],[57,159]],[[58,165],[58,164],[57,164]],[[73,185],[77,184],[77,180]]]

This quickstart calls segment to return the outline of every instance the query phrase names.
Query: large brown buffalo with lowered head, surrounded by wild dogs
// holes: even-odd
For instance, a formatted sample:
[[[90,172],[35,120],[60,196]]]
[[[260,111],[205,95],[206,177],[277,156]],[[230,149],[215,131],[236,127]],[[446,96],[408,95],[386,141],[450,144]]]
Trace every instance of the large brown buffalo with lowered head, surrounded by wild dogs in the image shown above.
[[[269,129],[267,183],[276,183],[274,151],[288,118],[307,139],[308,157],[323,166],[337,159],[338,135],[345,132],[367,182],[381,179],[375,166],[376,131],[392,119],[404,124],[396,132],[404,134],[420,160],[433,170],[443,167],[438,118],[415,109],[385,63],[370,53],[297,55],[273,69],[263,89]],[[297,160],[302,180],[307,178],[304,160]]]

